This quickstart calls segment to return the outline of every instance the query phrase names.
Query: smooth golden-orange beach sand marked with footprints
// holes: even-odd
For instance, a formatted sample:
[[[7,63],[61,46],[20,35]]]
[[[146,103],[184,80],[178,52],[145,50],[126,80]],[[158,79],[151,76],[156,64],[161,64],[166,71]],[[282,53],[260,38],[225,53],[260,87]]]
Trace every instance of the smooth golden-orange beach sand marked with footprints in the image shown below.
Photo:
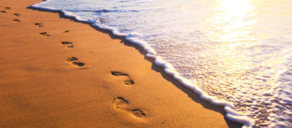
[[[0,0],[1,128],[241,127],[138,46],[40,1]]]

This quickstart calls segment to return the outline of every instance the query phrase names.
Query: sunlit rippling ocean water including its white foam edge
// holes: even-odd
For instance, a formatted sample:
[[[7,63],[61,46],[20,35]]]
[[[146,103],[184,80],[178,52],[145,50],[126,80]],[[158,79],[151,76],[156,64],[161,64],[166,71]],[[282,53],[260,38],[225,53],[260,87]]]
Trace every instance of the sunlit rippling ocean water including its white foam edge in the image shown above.
[[[292,0],[46,0],[141,46],[243,127],[292,128]]]

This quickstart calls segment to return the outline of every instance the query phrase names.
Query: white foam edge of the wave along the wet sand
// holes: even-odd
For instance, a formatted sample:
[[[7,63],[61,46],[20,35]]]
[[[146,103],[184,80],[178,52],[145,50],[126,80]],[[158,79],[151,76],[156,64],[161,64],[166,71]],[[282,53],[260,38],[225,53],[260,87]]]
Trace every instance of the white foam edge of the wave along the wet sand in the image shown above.
[[[211,96],[207,95],[203,90],[201,90],[200,88],[198,88],[197,86],[192,84],[190,82],[190,80],[187,80],[187,79],[179,76],[179,73],[175,71],[174,67],[170,63],[163,60],[160,56],[157,56],[156,51],[154,51],[154,49],[152,49],[145,41],[142,41],[142,40],[139,40],[136,38],[139,36],[138,33],[130,33],[130,34],[121,33],[121,32],[119,32],[119,30],[117,28],[102,25],[101,23],[99,23],[95,19],[84,20],[76,15],[73,15],[71,12],[68,12],[65,10],[55,9],[52,7],[41,7],[40,6],[40,4],[47,3],[49,1],[50,0],[42,1],[42,2],[31,5],[30,7],[37,8],[37,9],[49,10],[49,11],[60,11],[60,12],[64,13],[64,15],[67,17],[72,17],[72,18],[75,18],[76,20],[82,21],[82,22],[93,23],[93,26],[97,26],[98,28],[103,29],[103,30],[111,31],[115,36],[125,37],[125,39],[128,40],[129,42],[136,44],[136,45],[140,46],[141,48],[143,48],[143,50],[147,51],[146,57],[153,58],[155,61],[155,64],[157,66],[163,67],[164,72],[166,74],[168,74],[168,75],[172,76],[174,79],[178,80],[185,87],[192,89],[197,95],[200,96],[201,99],[206,100],[214,105],[225,106],[224,110],[227,112],[227,115],[226,115],[227,119],[243,124],[242,128],[253,128],[255,126],[255,122],[253,121],[253,119],[246,117],[246,116],[240,116],[235,111],[235,106],[233,105],[232,102],[220,101],[214,97],[211,97]]]

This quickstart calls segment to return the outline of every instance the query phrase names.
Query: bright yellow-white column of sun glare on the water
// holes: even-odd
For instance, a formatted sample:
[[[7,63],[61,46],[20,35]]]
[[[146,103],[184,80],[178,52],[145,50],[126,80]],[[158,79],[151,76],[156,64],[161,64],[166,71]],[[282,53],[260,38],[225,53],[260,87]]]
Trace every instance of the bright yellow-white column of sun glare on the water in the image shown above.
[[[254,18],[257,13],[250,0],[216,0],[216,3],[213,7],[214,15],[202,23],[207,42],[215,43],[205,45],[212,50],[210,54],[220,62],[217,66],[233,73],[232,77],[225,79],[235,82],[234,79],[245,76],[246,71],[255,66],[246,56],[253,51],[238,51],[238,48],[257,45],[251,30],[257,23]]]

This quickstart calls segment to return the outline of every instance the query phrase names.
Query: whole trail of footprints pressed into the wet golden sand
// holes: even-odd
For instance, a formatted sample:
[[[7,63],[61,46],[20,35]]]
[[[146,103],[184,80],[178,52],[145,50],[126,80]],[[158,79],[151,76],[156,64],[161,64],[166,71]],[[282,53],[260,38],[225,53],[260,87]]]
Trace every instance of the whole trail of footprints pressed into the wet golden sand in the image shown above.
[[[7,13],[7,11],[10,10],[11,8],[10,7],[4,7],[4,9],[5,10],[1,10],[0,12],[1,13]],[[14,15],[17,16],[17,17],[20,16],[19,13],[14,13]],[[14,21],[14,22],[21,22],[19,19],[13,19],[12,21]],[[34,23],[34,26],[43,27],[44,25],[42,23]],[[66,33],[66,32],[69,32],[69,31],[70,30],[66,30],[64,32]],[[40,36],[44,36],[44,37],[49,37],[50,36],[47,32],[40,32],[39,35]],[[62,41],[61,44],[62,45],[65,45],[66,48],[73,48],[73,43],[72,42]],[[70,63],[70,64],[72,64],[72,65],[74,65],[76,67],[82,67],[82,66],[85,65],[82,62],[78,62],[78,58],[77,57],[69,57],[69,58],[66,59],[66,62],[68,62],[68,63]],[[134,81],[126,73],[112,71],[111,72],[111,75],[123,79],[124,84],[126,84],[126,85],[133,85],[134,84]],[[129,109],[128,108],[129,102],[127,100],[125,100],[124,98],[122,98],[122,97],[116,97],[116,98],[114,98],[114,100],[113,100],[112,103],[114,104],[114,107],[116,109],[119,109],[119,110],[123,110],[125,112],[128,112],[128,113],[130,113],[135,118],[142,118],[142,117],[145,117],[146,116],[146,114],[142,110],[139,110],[139,109]]]

